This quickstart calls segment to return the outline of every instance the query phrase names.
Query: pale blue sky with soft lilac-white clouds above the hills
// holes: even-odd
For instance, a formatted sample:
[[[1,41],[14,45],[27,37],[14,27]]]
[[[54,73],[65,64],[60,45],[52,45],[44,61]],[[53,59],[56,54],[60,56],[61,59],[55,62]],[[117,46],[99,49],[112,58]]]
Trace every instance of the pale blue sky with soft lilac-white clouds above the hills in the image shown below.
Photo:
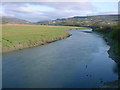
[[[3,2],[0,15],[38,22],[69,18],[118,14],[118,1],[114,2]]]

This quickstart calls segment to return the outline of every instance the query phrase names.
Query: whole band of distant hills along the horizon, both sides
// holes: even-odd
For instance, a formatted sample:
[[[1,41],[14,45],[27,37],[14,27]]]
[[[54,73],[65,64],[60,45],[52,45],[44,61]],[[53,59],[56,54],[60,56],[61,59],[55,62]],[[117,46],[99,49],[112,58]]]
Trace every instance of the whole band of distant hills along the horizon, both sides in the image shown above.
[[[40,21],[31,23],[15,17],[2,17],[3,24],[38,24],[38,25],[62,25],[62,26],[95,26],[95,25],[116,25],[118,15],[97,15],[97,16],[75,16],[71,18],[62,18],[49,21]]]

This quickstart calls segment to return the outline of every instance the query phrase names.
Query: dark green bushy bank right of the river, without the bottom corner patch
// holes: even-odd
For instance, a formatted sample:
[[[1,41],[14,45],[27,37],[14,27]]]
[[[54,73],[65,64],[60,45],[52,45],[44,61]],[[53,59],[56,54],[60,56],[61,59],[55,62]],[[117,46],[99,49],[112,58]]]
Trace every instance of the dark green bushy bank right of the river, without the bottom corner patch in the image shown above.
[[[110,46],[109,57],[120,63],[120,27],[118,26],[94,26],[93,31],[103,35]]]

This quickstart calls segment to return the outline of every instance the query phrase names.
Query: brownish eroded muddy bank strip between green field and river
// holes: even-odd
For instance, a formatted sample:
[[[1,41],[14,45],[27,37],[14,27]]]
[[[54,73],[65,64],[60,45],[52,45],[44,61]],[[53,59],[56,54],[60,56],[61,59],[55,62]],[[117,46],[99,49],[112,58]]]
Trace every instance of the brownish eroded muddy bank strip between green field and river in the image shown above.
[[[0,52],[0,53],[7,53],[7,52],[11,52],[11,51],[22,50],[22,49],[26,49],[26,48],[41,46],[41,45],[52,43],[52,42],[55,42],[55,41],[58,41],[58,40],[65,39],[65,38],[70,37],[70,36],[71,36],[71,34],[68,33],[68,34],[64,35],[63,37],[57,37],[53,40],[35,41],[35,42],[32,42],[32,41],[29,40],[29,42],[27,42],[27,43],[18,43],[16,45],[12,46],[12,47],[2,47],[2,52]]]

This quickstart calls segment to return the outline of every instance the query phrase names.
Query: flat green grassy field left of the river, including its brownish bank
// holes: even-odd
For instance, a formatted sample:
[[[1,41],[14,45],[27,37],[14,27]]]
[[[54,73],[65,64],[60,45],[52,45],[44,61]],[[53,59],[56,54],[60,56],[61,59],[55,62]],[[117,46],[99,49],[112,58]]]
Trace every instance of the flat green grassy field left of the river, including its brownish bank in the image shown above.
[[[65,30],[70,29],[83,29],[83,27],[3,25],[3,52],[39,46],[64,39],[70,36]]]

